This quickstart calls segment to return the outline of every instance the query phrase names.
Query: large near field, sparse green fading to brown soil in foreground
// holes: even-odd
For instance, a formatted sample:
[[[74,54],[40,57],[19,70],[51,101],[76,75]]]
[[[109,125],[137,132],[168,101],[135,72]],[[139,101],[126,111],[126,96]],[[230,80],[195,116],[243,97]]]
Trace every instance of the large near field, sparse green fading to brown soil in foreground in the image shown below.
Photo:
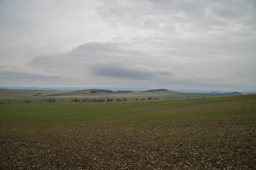
[[[76,105],[24,99],[0,105],[3,170],[256,169],[256,95]]]

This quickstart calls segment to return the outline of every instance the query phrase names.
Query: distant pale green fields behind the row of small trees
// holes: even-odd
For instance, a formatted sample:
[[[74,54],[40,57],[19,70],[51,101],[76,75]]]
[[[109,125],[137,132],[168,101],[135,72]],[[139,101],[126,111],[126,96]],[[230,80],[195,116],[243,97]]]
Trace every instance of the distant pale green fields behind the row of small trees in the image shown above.
[[[41,94],[38,96],[33,96],[35,94]],[[68,104],[72,99],[113,99],[113,102],[116,102],[116,98],[123,99],[124,97],[128,99],[126,102],[148,102],[148,97],[152,97],[151,102],[156,101],[174,101],[174,100],[184,100],[184,99],[201,99],[201,98],[214,98],[220,97],[213,94],[189,94],[189,93],[180,93],[175,91],[157,91],[157,92],[130,92],[130,93],[98,93],[92,94],[89,91],[46,91],[46,90],[7,90],[0,89],[0,100],[5,102],[5,104],[10,105],[20,105],[24,104],[25,100],[29,100],[30,105],[32,104],[46,104],[42,100],[49,98],[55,98],[56,103],[58,104]],[[221,96],[223,97],[223,96]],[[135,99],[138,101],[135,101]],[[156,100],[154,100],[157,98]],[[63,101],[64,99],[64,101]],[[140,100],[145,99],[145,100]],[[123,101],[122,101],[123,102]],[[54,104],[56,104],[54,103]],[[106,102],[105,102],[106,103]],[[52,104],[52,103],[47,103]]]

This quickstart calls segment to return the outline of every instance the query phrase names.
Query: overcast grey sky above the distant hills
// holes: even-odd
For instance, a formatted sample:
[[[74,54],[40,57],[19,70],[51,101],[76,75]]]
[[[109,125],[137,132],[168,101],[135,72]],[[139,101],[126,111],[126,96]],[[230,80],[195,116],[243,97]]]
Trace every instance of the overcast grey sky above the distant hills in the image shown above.
[[[256,90],[255,0],[0,0],[0,86]]]

